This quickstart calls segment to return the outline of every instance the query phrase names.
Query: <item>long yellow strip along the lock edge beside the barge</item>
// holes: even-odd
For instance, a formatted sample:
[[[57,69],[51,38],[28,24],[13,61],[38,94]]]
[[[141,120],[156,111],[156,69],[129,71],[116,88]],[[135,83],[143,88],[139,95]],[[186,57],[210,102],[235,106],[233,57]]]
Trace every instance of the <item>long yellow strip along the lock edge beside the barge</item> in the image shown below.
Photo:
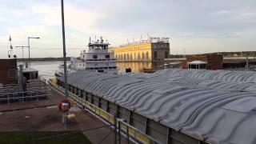
[[[62,94],[65,93],[65,90],[55,85],[54,83],[49,81],[49,85],[52,86],[55,90],[58,90]],[[94,114],[96,114],[98,117],[103,118],[106,122],[109,122],[110,124],[114,124],[114,115],[106,112],[105,110],[102,110],[98,106],[94,106],[90,102],[86,101],[83,98],[78,97],[78,95],[69,93],[69,98],[71,98],[74,102],[78,103],[81,106],[84,106],[87,110],[90,110]],[[126,122],[123,122],[121,119],[117,119],[118,121],[118,130],[121,130],[121,133],[126,136],[128,139],[132,139],[135,142],[143,143],[143,144],[150,144],[151,141],[154,141],[153,139],[150,139],[146,134],[142,134],[139,130],[134,128],[133,126],[130,126]]]

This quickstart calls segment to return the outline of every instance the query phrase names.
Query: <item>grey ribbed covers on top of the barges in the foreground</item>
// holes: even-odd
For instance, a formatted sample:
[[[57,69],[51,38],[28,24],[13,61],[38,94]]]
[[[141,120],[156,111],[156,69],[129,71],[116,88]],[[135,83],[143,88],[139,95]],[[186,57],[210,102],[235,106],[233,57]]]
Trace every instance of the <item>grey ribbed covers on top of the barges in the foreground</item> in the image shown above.
[[[59,78],[63,81],[63,78]],[[68,74],[68,83],[210,143],[256,143],[256,73]]]

